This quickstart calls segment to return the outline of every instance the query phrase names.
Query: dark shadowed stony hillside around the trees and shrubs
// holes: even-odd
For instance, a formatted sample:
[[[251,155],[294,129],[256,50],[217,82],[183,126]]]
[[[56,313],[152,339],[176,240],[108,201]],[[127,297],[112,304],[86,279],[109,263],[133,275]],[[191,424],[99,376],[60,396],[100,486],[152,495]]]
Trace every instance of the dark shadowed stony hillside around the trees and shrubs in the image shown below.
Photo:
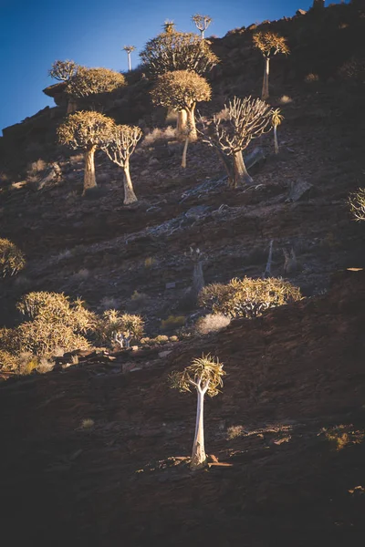
[[[200,313],[189,297],[191,245],[203,251],[205,282],[212,283],[263,274],[274,240],[272,274],[305,296],[232,322],[219,335],[84,352],[78,365],[3,383],[7,545],[360,542],[365,278],[348,268],[365,265],[365,232],[347,199],[363,184],[365,117],[363,83],[339,78],[339,67],[359,52],[365,17],[341,5],[311,17],[271,24],[291,37],[293,51],[272,68],[271,104],[285,116],[281,151],[274,155],[271,134],[254,143],[248,152],[258,145],[266,160],[250,170],[255,186],[245,190],[227,187],[222,165],[201,142],[190,146],[181,169],[182,145],[166,129],[173,120],[153,118],[142,99],[131,121],[144,118],[146,133],[159,129],[132,157],[140,201],[129,207],[120,171],[101,153],[99,192],[85,199],[82,157],[44,144],[62,107],[5,131],[0,151],[18,139],[24,158],[39,163],[26,174],[4,154],[0,233],[26,253],[27,266],[2,282],[2,325],[16,322],[16,301],[32,290],[79,295],[96,311],[141,313],[147,335],[162,334],[169,315],[189,325]],[[324,29],[328,40],[318,50]],[[203,113],[222,108],[232,93],[259,90],[262,59],[251,60],[250,33],[237,29],[214,40],[224,62]],[[298,33],[307,33],[305,46]],[[308,78],[312,73],[318,79]],[[133,86],[142,94],[148,83]],[[21,129],[20,139],[14,135]],[[42,186],[51,161],[61,176]],[[308,191],[297,199],[293,188],[302,184]],[[291,249],[297,267],[285,272],[283,250]],[[212,465],[192,474],[185,459],[194,397],[172,392],[167,377],[202,352],[219,356],[227,377],[206,406]]]

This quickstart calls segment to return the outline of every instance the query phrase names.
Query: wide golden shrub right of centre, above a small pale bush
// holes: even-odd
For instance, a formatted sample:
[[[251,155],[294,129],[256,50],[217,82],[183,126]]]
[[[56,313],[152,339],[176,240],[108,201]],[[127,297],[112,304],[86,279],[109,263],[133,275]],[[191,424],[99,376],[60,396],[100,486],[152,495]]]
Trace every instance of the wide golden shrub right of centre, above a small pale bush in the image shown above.
[[[232,279],[228,284],[210,284],[199,294],[199,304],[214,314],[228,317],[256,317],[266,309],[301,299],[300,291],[287,281]]]

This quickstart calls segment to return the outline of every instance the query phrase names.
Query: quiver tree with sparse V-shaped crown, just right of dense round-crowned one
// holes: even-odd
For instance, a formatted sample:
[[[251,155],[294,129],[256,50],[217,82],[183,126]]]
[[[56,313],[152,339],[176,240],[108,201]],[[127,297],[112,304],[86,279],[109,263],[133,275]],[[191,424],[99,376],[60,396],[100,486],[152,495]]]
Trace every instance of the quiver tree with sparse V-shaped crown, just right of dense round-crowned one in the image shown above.
[[[124,171],[124,204],[137,201],[130,179],[130,155],[134,152],[142,131],[136,126],[116,125],[111,131],[110,139],[102,147],[111,161]]]

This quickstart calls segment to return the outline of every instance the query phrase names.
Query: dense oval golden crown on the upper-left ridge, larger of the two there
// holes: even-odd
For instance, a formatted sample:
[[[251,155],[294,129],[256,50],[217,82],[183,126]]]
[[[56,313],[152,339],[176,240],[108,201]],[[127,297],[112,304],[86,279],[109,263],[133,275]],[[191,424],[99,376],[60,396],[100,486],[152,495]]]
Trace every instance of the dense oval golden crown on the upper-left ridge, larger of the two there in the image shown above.
[[[78,67],[77,73],[68,80],[66,93],[73,101],[95,99],[112,93],[126,85],[125,77],[109,68]]]

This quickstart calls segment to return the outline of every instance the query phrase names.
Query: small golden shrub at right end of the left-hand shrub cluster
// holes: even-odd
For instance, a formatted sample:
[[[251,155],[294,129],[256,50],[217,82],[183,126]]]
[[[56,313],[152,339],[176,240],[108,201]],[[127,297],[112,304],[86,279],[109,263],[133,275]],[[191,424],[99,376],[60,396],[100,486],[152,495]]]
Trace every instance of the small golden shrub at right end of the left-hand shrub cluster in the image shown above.
[[[95,333],[99,342],[110,344],[117,334],[140,339],[143,326],[141,315],[120,314],[117,310],[106,310],[97,320]]]

